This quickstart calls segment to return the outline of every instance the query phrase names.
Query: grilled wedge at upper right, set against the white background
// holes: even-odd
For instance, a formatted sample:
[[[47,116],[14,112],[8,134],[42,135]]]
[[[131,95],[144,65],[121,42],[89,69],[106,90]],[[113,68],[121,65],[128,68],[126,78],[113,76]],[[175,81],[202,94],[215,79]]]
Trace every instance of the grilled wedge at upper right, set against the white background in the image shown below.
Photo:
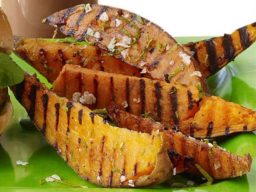
[[[201,72],[208,78],[233,61],[256,40],[256,22],[235,30],[223,37],[214,37],[183,44],[193,52]]]

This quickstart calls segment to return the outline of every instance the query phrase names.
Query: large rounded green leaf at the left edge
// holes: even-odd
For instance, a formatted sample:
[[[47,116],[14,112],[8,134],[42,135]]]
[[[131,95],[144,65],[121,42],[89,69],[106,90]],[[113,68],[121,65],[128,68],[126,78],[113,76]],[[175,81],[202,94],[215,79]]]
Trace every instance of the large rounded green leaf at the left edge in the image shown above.
[[[24,79],[24,71],[8,54],[0,53],[0,87],[19,84]]]

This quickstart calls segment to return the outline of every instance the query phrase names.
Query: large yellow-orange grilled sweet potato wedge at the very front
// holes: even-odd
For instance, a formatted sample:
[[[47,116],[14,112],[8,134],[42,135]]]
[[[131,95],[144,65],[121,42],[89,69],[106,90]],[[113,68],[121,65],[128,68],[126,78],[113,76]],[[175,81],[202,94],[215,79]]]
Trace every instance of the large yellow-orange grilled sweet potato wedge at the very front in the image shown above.
[[[143,187],[170,179],[163,133],[113,127],[81,103],[61,98],[25,75],[12,92],[47,142],[84,180],[103,187]]]

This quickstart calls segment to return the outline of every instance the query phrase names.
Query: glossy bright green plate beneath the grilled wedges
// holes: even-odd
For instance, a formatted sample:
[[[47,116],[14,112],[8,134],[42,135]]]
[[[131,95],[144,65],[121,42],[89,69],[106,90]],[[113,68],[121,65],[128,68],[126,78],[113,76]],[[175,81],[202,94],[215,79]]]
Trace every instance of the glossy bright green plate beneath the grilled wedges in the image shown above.
[[[180,43],[197,41],[206,37],[179,37]],[[12,55],[14,60],[22,67],[34,72],[30,66]],[[43,82],[42,76],[38,76]],[[48,84],[48,86],[50,86]],[[234,62],[209,79],[209,87],[212,95],[220,96],[227,101],[238,103],[247,108],[256,110],[256,44],[240,54]],[[0,191],[98,191],[99,188],[89,182],[81,180],[76,173],[62,160],[55,150],[47,144],[44,137],[33,126],[22,128],[20,119],[27,119],[24,108],[15,100],[12,93],[11,100],[15,108],[11,125],[0,137]],[[22,121],[23,122],[23,121]],[[231,153],[244,155],[250,153],[256,159],[256,135],[255,132],[235,133],[229,136],[215,138],[222,147]],[[28,165],[16,165],[17,160],[29,162]],[[57,182],[42,182],[39,180],[59,175],[62,180],[86,185],[89,189],[73,188]],[[186,174],[175,175],[171,180],[147,189],[122,189],[130,191],[159,191],[159,192],[216,192],[239,191],[254,192],[256,190],[256,161],[251,165],[251,172],[241,177],[226,180],[215,180],[210,186],[172,188],[173,181],[187,182],[193,180],[196,184],[200,180]],[[103,191],[120,189],[101,189]]]

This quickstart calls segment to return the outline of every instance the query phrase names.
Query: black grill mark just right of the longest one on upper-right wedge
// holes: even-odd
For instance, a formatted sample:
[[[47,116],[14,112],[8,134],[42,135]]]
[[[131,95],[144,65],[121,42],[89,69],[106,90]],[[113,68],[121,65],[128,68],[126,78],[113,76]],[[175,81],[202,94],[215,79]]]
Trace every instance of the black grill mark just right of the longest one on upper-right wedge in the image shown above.
[[[235,57],[235,49],[232,45],[232,39],[230,34],[224,34],[224,37],[222,39],[222,44],[224,47],[224,58],[226,58],[228,61],[234,61]]]

